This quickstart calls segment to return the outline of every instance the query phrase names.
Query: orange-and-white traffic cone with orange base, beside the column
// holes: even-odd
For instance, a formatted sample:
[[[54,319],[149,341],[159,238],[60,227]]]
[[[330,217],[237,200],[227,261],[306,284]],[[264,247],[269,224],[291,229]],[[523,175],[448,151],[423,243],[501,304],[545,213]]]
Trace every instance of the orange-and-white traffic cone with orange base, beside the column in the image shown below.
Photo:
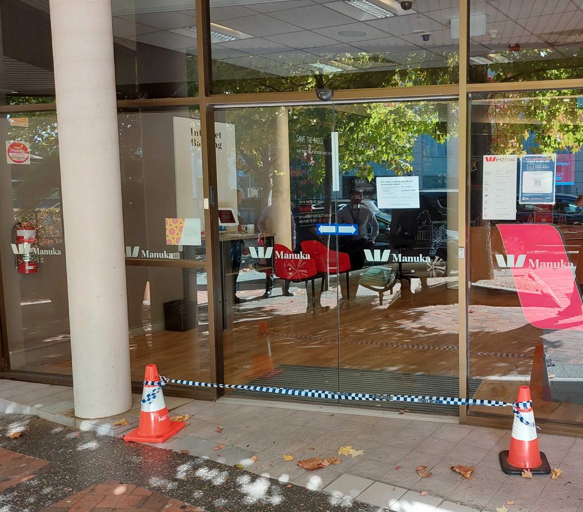
[[[158,382],[160,376],[156,364],[146,366],[145,381]],[[170,413],[164,402],[162,390],[156,392],[156,397],[150,394],[156,385],[144,384],[142,392],[142,410],[140,412],[140,424],[137,429],[125,434],[126,441],[138,441],[141,443],[164,443],[174,436],[178,430],[184,428],[184,422],[170,421]]]

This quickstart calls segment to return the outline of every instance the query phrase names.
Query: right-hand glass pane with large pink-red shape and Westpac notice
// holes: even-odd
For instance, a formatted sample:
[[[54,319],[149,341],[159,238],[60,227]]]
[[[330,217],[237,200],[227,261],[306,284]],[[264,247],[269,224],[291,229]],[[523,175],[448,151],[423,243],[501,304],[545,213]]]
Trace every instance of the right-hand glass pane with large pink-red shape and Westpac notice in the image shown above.
[[[581,107],[580,90],[471,101],[469,388],[512,402],[530,385],[550,422],[583,411]]]

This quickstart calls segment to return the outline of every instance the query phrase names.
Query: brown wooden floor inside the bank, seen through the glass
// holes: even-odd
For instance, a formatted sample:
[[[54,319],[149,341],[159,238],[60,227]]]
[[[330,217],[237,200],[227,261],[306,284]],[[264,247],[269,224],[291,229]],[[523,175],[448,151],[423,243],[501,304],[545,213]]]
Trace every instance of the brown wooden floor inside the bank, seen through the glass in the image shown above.
[[[415,280],[413,281],[415,283]],[[359,289],[350,301],[337,290],[308,307],[305,290],[294,295],[252,300],[233,307],[233,322],[223,332],[225,381],[245,384],[273,367],[310,367],[404,372],[418,376],[458,376],[458,290],[447,285],[415,290],[411,300],[399,293],[378,295]],[[257,293],[256,293],[257,295]],[[542,399],[536,382],[535,348],[542,331],[529,325],[514,293],[472,287],[469,310],[470,378],[482,380],[476,398],[514,401],[517,387],[530,383],[540,419],[583,423],[583,405]],[[210,353],[204,324],[187,332],[150,331],[130,339],[132,380],[141,381],[148,363],[171,378],[208,381]],[[583,343],[566,350],[581,357]],[[554,343],[555,352],[561,347]],[[540,363],[542,364],[542,363]],[[540,366],[539,364],[539,366]],[[70,373],[71,363],[47,364],[35,371]],[[531,378],[532,377],[532,378]],[[434,394],[441,394],[436,388]],[[505,409],[473,411],[511,415]]]

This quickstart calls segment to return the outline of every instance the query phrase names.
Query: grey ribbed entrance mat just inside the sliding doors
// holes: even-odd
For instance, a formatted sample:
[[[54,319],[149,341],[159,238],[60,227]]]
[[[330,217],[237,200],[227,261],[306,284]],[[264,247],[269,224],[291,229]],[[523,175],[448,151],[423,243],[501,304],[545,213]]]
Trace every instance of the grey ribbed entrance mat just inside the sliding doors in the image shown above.
[[[470,379],[469,396],[473,397],[482,381]],[[350,368],[324,368],[319,366],[299,366],[280,364],[246,384],[282,388],[298,388],[357,393],[459,396],[458,377],[443,375],[423,375],[401,371],[354,370]],[[232,391],[231,397],[264,398],[268,400],[306,401],[317,404],[338,404],[332,399],[307,397],[285,397],[254,391]],[[382,409],[409,409],[410,411],[433,412],[442,415],[458,415],[458,405],[412,404],[405,402],[364,402],[342,401],[353,406],[368,406]]]

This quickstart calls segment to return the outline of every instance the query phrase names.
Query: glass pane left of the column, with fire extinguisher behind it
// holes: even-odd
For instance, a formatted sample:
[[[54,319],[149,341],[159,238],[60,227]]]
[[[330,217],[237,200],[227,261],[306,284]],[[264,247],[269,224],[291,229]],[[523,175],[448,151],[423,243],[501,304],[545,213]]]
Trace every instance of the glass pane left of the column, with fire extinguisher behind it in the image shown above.
[[[71,373],[57,115],[1,124],[2,285],[12,370]]]

